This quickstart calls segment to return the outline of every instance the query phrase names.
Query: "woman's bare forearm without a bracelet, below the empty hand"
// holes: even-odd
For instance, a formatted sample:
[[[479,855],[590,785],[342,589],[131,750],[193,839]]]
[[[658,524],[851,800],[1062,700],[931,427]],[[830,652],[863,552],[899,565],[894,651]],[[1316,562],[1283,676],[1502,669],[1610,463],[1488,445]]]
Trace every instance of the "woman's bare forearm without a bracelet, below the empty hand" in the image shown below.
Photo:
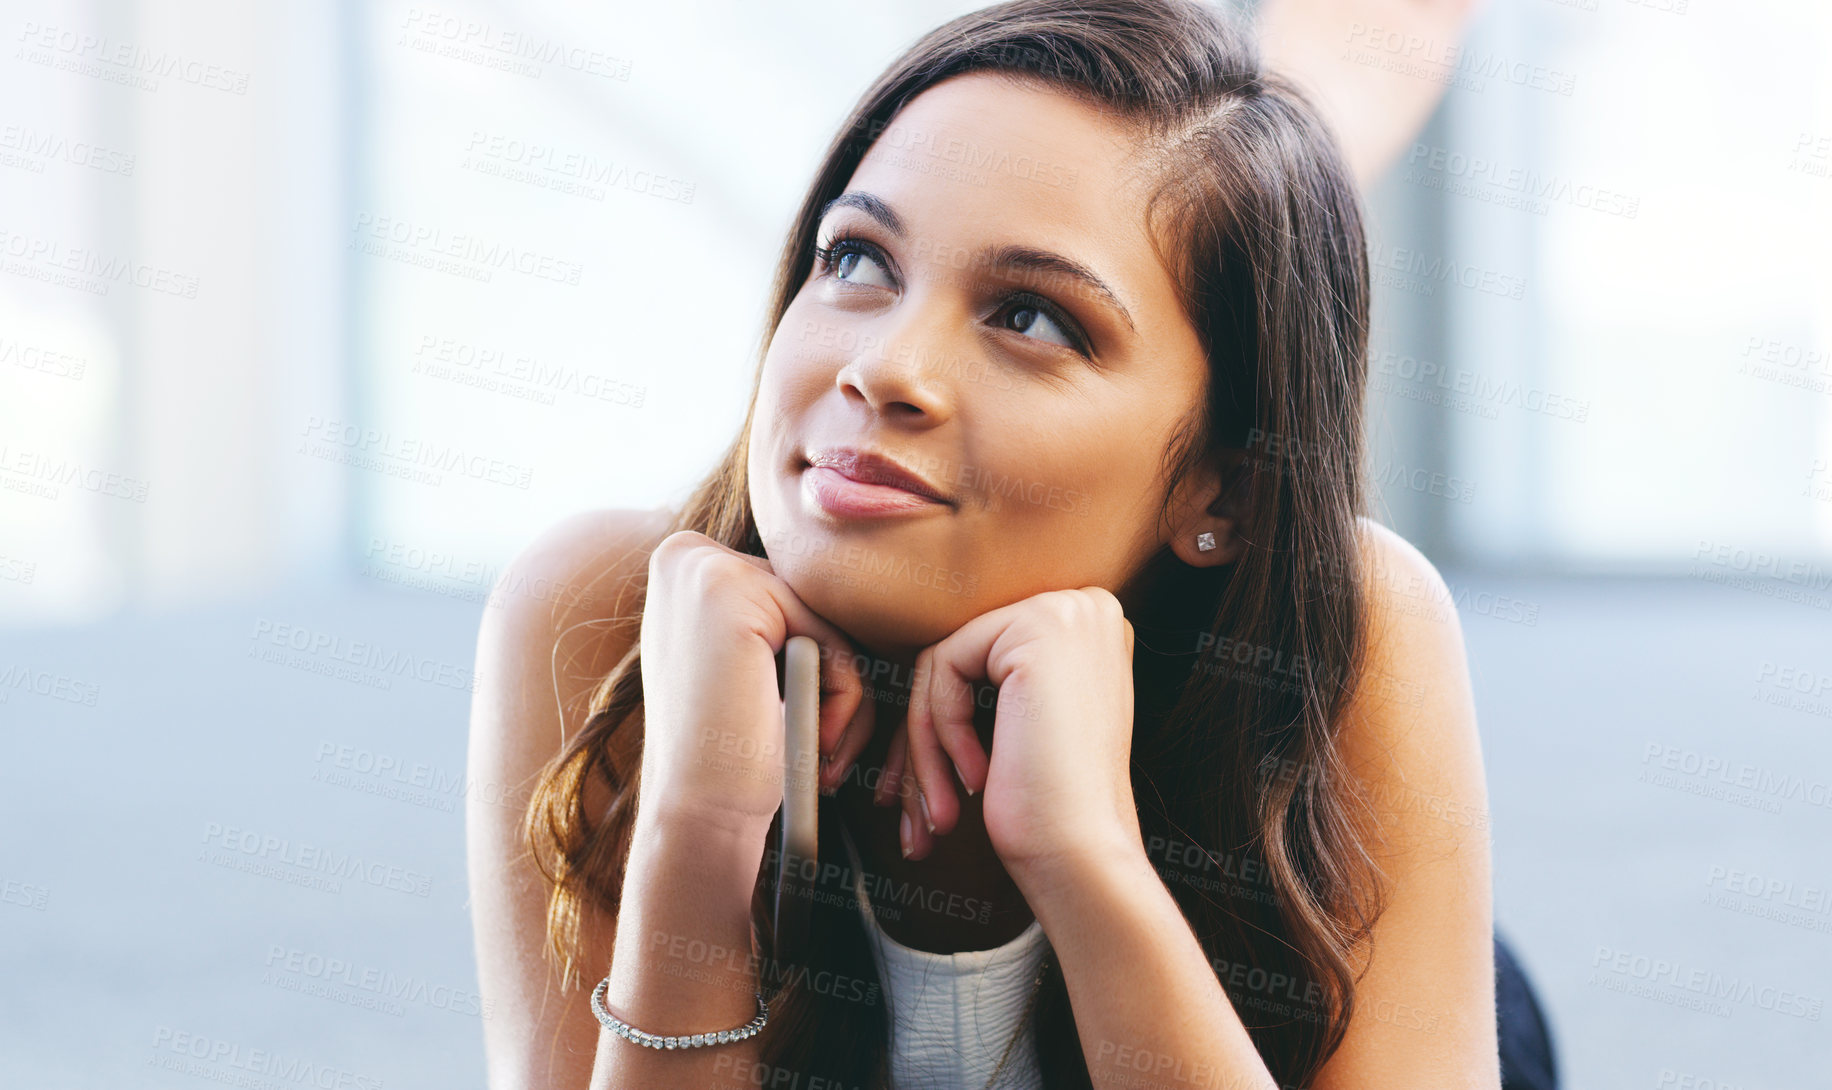
[[[1063,964],[1096,1090],[1277,1090],[1143,845],[1013,877]]]

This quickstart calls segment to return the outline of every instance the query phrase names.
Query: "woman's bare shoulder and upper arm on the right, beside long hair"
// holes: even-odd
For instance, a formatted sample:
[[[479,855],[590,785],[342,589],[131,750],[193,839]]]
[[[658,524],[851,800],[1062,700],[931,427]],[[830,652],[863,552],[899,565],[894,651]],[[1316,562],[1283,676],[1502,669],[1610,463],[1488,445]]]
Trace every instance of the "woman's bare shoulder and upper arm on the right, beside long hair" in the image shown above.
[[[1356,813],[1381,912],[1358,951],[1348,1031],[1312,1086],[1394,1070],[1497,1086],[1488,786],[1456,603],[1416,546],[1372,520],[1359,529],[1369,639],[1339,753],[1365,788]],[[1423,1019],[1431,1033],[1416,1030]]]

